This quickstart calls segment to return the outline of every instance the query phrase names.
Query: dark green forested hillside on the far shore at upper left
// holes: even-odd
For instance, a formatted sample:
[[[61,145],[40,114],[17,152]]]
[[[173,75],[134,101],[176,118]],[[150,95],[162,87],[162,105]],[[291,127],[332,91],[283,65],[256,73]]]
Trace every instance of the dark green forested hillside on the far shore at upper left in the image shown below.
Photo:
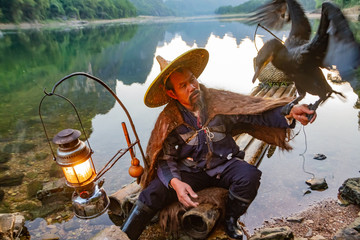
[[[0,0],[0,22],[115,19],[136,16],[129,0]]]

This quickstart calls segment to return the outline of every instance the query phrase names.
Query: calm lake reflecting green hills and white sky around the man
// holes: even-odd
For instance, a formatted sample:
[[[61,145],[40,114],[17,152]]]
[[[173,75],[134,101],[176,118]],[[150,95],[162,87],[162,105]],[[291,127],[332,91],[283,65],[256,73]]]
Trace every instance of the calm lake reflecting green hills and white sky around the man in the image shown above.
[[[318,21],[312,21],[314,26]],[[358,24],[354,26],[358,29]],[[61,29],[4,30],[0,38],[0,150],[1,177],[18,175],[21,183],[1,186],[4,199],[1,212],[30,211],[26,227],[31,239],[54,232],[61,239],[89,239],[112,225],[107,214],[80,220],[72,216],[36,215],[41,203],[33,188],[54,181],[56,164],[40,123],[38,107],[44,89],[73,72],[88,72],[108,84],[128,109],[143,149],[162,108],[150,109],[143,103],[144,93],[160,72],[155,57],[172,60],[183,52],[206,48],[209,63],[199,81],[208,87],[248,94],[257,86],[251,82],[255,26],[234,18],[192,19],[183,22],[142,24],[110,23]],[[285,38],[289,28],[274,33]],[[256,46],[272,38],[259,29]],[[291,152],[276,150],[264,157],[262,184],[258,196],[242,221],[253,231],[263,220],[306,209],[326,198],[336,198],[338,188],[351,177],[359,177],[360,110],[359,89],[349,84],[333,84],[346,100],[328,99],[319,107],[316,121],[304,129],[295,128]],[[57,88],[79,111],[94,150],[93,160],[100,170],[126,141],[121,122],[127,118],[115,99],[99,84],[82,77],[71,78]],[[313,103],[308,95],[302,103]],[[42,107],[45,126],[52,138],[65,128],[79,129],[79,121],[67,102],[49,98]],[[128,124],[128,129],[130,125]],[[84,136],[84,134],[82,135]],[[134,135],[130,130],[130,138]],[[54,146],[53,146],[54,147]],[[137,156],[141,154],[136,149]],[[304,157],[300,154],[304,153]],[[316,153],[327,156],[314,160]],[[143,165],[143,164],[142,164]],[[130,156],[125,155],[105,177],[108,195],[133,181],[128,175]],[[325,178],[325,191],[308,190],[305,181],[314,174]],[[41,217],[39,217],[41,216]],[[66,221],[64,220],[66,219]],[[54,230],[55,229],[55,230]]]

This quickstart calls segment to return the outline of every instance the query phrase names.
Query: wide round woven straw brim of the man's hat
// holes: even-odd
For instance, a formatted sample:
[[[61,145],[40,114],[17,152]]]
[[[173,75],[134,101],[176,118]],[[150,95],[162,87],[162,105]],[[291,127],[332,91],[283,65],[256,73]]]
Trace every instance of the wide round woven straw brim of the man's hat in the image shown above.
[[[168,103],[171,99],[165,90],[168,77],[179,68],[187,68],[198,78],[204,71],[208,60],[209,52],[203,48],[191,49],[177,57],[151,83],[144,96],[145,105],[154,108]]]

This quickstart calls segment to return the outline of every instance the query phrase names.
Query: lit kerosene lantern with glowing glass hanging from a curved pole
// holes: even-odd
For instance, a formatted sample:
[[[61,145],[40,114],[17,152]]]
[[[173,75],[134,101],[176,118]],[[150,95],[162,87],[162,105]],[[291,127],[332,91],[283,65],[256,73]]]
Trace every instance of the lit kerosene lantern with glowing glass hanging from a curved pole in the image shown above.
[[[101,215],[110,201],[104,189],[94,182],[96,171],[92,151],[79,139],[80,135],[78,130],[65,129],[53,138],[53,142],[58,145],[56,163],[63,170],[67,185],[75,189],[72,196],[74,213],[86,219]]]

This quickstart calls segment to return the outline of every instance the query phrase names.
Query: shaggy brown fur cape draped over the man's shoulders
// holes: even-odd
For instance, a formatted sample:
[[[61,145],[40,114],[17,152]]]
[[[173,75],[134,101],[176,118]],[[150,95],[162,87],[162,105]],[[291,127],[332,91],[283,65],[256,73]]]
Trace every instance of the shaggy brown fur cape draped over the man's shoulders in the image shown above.
[[[208,111],[207,122],[216,115],[261,114],[267,110],[284,106],[292,100],[292,98],[265,99],[253,97],[225,90],[206,88],[201,84],[200,89],[204,94]],[[141,177],[141,185],[144,188],[148,186],[156,174],[157,158],[166,137],[181,124],[184,124],[184,119],[176,106],[175,100],[171,100],[160,113],[146,148],[145,161],[147,164],[145,166],[149,167],[145,169]],[[241,133],[248,133],[268,144],[279,146],[281,149],[291,149],[288,144],[289,129],[241,123],[234,127],[232,135],[236,136]]]

